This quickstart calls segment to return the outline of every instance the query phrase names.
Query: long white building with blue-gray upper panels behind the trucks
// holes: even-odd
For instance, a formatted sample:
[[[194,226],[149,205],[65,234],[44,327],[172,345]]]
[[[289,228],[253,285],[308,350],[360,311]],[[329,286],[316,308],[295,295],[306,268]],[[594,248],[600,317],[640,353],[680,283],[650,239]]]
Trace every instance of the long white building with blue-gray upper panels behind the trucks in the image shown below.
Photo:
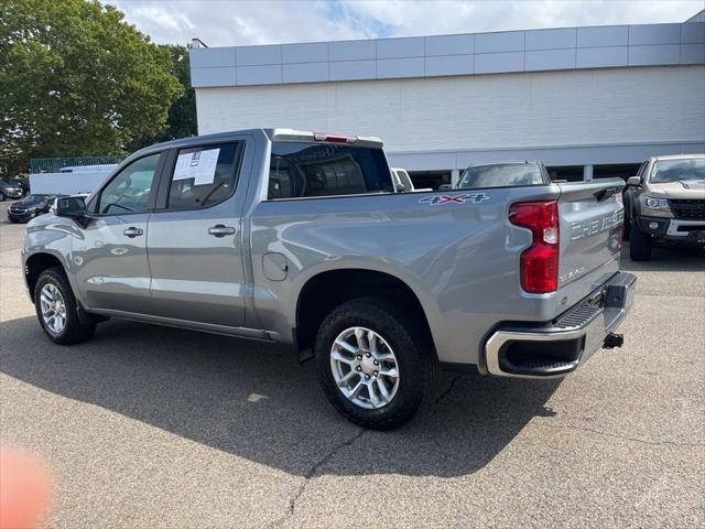
[[[705,152],[705,22],[191,52],[199,133],[291,127],[380,137],[422,185],[470,163],[633,174]],[[429,179],[432,182],[429,182]]]

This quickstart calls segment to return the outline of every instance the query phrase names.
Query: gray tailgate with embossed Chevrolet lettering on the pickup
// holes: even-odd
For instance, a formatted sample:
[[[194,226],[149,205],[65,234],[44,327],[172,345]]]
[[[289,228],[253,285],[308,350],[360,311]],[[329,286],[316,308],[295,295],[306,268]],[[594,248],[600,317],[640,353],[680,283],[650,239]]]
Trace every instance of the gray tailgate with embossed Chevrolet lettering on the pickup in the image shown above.
[[[621,179],[558,184],[561,261],[556,314],[619,270],[623,205]]]

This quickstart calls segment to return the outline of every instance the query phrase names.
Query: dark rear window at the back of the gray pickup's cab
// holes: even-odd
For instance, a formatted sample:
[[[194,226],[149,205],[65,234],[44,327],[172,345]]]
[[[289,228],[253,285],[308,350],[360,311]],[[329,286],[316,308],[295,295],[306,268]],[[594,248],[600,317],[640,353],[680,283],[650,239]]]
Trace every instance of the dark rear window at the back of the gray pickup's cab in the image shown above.
[[[381,149],[349,144],[272,143],[269,199],[392,192]]]

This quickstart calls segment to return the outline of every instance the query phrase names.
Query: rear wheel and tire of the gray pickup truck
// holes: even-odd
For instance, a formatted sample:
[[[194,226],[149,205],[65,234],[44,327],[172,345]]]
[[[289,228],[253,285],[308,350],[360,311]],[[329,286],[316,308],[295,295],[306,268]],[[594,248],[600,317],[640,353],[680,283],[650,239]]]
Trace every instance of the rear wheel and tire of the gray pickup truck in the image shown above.
[[[433,396],[437,360],[430,339],[400,306],[360,298],[334,309],[316,337],[318,379],[350,421],[391,430]]]

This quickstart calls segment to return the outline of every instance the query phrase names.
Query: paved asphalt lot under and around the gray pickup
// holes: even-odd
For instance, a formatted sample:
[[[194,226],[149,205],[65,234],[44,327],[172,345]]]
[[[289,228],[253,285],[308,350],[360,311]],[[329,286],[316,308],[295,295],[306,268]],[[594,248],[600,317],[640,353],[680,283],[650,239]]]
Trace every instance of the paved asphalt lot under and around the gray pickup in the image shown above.
[[[285,349],[134,323],[51,345],[0,205],[0,438],[58,483],[55,527],[703,527],[705,256],[659,251],[626,347],[563,382],[447,375],[391,433]]]

